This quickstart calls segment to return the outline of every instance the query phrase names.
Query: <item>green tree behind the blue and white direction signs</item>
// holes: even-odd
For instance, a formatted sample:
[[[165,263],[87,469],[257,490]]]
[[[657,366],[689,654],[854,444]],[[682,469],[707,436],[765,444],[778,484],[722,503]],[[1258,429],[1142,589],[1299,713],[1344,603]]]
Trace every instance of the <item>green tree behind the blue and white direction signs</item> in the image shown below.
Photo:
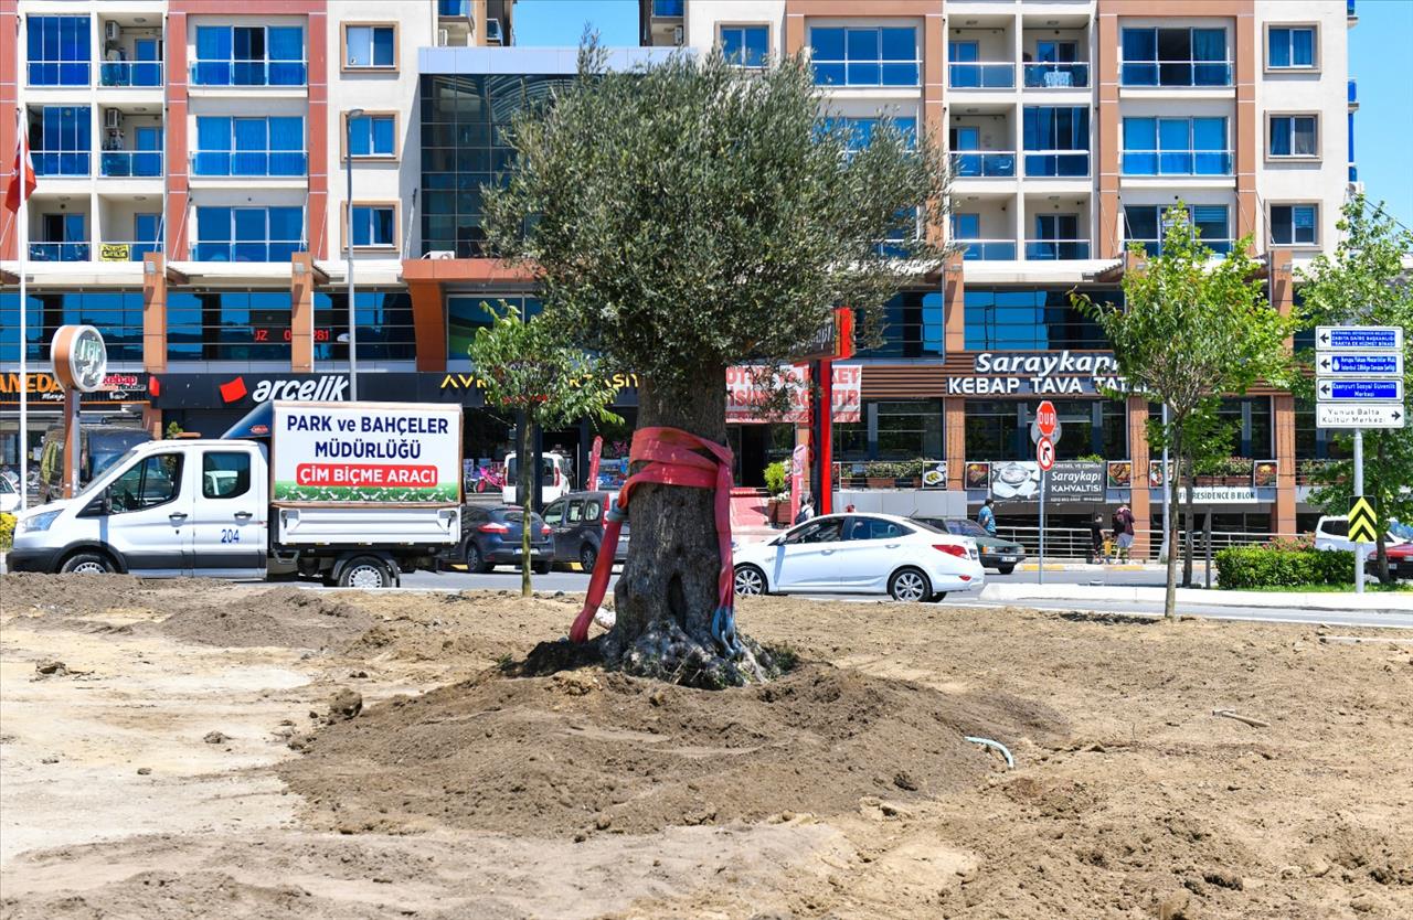
[[[1382,205],[1373,206],[1362,195],[1345,203],[1338,227],[1341,240],[1334,257],[1321,254],[1299,274],[1303,282],[1300,323],[1306,329],[1344,323],[1402,326],[1406,330],[1405,391],[1409,391],[1413,388],[1413,282],[1402,261],[1405,253],[1413,253],[1413,230],[1400,229]],[[1300,358],[1313,370],[1313,353],[1306,351]],[[1301,378],[1300,387],[1297,392],[1307,399],[1314,398],[1311,378]],[[1334,437],[1337,444],[1349,450],[1349,432],[1338,432]],[[1352,460],[1313,464],[1310,476],[1320,484],[1311,495],[1314,504],[1328,514],[1348,512],[1354,491]],[[1413,521],[1410,484],[1413,426],[1366,430],[1364,494],[1373,501],[1379,521]]]

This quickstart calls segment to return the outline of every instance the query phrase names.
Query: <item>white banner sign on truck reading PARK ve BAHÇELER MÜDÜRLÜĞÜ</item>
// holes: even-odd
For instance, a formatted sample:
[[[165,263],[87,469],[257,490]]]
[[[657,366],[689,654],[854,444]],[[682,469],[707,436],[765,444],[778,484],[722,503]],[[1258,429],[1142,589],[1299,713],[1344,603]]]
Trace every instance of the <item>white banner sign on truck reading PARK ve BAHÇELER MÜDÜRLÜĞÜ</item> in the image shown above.
[[[274,404],[273,501],[434,505],[461,501],[461,406]]]

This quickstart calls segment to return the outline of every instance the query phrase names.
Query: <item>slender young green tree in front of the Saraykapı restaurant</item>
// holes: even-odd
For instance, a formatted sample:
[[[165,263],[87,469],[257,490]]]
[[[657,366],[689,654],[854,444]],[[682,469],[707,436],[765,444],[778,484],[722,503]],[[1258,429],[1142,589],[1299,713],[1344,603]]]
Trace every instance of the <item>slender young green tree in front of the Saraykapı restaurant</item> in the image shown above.
[[[1161,254],[1147,255],[1142,244],[1133,244],[1140,265],[1123,275],[1122,303],[1072,296],[1113,346],[1129,389],[1167,405],[1167,425],[1150,425],[1150,430],[1177,457],[1177,474],[1167,477],[1173,514],[1163,522],[1167,543],[1176,547],[1178,484],[1186,477],[1191,495],[1191,459],[1204,453],[1188,439],[1212,432],[1218,397],[1242,394],[1259,380],[1286,378],[1286,339],[1293,326],[1266,299],[1260,265],[1248,255],[1251,237],[1217,258],[1181,202],[1163,223]],[[1177,617],[1174,552],[1167,555],[1163,612]]]

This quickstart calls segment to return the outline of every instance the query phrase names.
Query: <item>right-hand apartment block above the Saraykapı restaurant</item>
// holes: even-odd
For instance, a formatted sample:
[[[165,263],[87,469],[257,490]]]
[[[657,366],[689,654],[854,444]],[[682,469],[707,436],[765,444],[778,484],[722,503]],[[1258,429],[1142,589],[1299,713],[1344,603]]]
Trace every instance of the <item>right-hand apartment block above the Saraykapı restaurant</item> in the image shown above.
[[[1075,526],[1121,501],[1156,526],[1161,502],[1145,476],[1157,408],[1099,395],[1112,353],[1070,292],[1122,296],[1128,244],[1157,253],[1181,200],[1217,253],[1252,234],[1289,309],[1291,270],[1332,250],[1356,181],[1354,23],[1352,0],[640,0],[644,44],[747,68],[805,52],[829,117],[861,143],[886,116],[950,151],[941,231],[961,251],[889,305],[835,460],[945,460],[974,504],[995,494],[1003,518],[1033,522],[1034,494],[989,488],[983,464],[993,477],[1034,459],[1029,426],[1048,398],[1058,457],[1108,464],[1102,502],[1060,511]],[[1198,490],[1218,529],[1307,526],[1303,471],[1332,447],[1313,411],[1253,389],[1225,412],[1238,457]]]

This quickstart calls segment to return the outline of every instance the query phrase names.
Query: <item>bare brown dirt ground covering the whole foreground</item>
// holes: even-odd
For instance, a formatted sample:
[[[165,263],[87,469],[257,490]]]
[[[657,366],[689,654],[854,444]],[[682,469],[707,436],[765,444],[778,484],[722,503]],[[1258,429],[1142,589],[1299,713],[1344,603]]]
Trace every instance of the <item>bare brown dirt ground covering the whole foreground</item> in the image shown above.
[[[764,598],[769,687],[513,676],[574,601],[4,577],[0,917],[1413,917],[1400,634]]]

